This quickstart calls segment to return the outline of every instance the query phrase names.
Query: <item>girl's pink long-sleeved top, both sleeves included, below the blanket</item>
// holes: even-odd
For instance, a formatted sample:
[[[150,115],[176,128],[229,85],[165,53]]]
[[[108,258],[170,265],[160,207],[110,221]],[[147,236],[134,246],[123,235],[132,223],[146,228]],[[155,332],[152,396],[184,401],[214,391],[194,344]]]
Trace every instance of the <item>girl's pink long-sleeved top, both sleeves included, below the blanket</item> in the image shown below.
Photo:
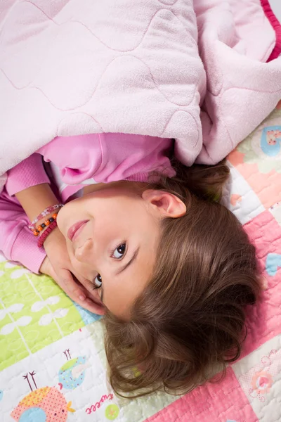
[[[15,198],[37,184],[51,184],[63,203],[79,196],[86,184],[148,181],[151,172],[173,177],[171,139],[131,134],[89,134],[53,139],[8,171],[0,195],[0,251],[38,273],[46,252],[28,229],[28,218]]]

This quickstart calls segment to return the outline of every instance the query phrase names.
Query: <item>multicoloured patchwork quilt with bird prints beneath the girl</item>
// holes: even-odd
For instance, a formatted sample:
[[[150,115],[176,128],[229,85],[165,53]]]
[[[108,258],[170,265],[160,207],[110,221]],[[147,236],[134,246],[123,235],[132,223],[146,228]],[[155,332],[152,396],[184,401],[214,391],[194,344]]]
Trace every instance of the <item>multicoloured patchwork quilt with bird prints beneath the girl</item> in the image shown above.
[[[256,245],[263,296],[221,383],[127,401],[106,381],[103,328],[47,276],[0,262],[0,421],[281,420],[281,103],[228,157],[223,200]]]

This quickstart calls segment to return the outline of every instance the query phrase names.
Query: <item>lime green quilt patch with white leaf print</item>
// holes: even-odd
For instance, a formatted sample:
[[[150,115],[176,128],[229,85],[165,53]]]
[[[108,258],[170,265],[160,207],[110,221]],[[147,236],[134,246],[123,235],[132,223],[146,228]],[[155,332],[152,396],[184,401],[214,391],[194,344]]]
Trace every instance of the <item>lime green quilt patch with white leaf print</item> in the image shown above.
[[[0,371],[84,325],[50,277],[0,262]]]

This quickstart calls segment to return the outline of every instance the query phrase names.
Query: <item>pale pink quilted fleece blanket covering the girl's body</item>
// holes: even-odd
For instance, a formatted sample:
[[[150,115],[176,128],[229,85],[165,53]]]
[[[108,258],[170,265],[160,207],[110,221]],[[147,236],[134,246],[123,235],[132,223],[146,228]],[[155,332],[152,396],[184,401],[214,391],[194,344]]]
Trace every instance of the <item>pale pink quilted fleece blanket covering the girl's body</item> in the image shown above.
[[[171,137],[185,164],[217,162],[281,98],[274,48],[260,0],[2,1],[0,174],[90,132]]]

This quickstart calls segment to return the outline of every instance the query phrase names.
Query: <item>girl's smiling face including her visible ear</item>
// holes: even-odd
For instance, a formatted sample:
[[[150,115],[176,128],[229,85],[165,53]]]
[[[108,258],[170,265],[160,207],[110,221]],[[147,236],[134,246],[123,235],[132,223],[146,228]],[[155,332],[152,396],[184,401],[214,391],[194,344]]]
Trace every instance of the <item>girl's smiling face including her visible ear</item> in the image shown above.
[[[140,192],[130,182],[93,185],[58,214],[75,271],[97,288],[97,302],[125,318],[152,276],[161,219],[185,213],[174,195]]]

